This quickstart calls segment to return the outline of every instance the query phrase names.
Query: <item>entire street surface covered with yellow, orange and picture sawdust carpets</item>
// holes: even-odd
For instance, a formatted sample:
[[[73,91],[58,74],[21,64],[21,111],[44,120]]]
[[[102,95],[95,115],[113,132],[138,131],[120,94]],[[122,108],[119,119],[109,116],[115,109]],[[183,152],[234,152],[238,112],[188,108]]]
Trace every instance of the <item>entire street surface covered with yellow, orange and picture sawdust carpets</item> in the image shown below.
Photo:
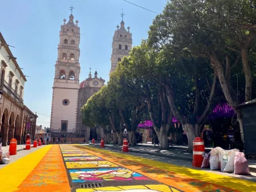
[[[0,181],[0,191],[256,191],[256,182],[185,160],[81,144],[44,145],[0,169]]]

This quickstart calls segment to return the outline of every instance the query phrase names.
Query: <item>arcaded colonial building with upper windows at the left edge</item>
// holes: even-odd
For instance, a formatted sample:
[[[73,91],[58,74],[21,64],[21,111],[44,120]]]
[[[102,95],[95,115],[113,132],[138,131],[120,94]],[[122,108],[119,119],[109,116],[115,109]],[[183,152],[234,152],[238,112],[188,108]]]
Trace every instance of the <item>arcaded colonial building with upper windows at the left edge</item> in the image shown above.
[[[6,146],[15,138],[18,144],[22,144],[27,133],[34,139],[38,116],[23,104],[24,85],[27,80],[1,32],[0,61],[0,143],[2,141],[2,145]]]

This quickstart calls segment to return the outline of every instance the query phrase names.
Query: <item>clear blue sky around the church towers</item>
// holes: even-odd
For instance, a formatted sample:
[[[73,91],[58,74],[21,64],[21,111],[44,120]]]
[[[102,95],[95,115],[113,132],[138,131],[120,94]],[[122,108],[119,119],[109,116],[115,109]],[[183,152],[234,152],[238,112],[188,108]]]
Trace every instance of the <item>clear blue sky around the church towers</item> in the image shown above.
[[[167,0],[129,0],[155,12],[161,12]],[[89,67],[109,80],[112,38],[125,14],[125,27],[130,26],[133,46],[147,38],[147,30],[156,14],[123,0],[8,0],[1,2],[0,31],[17,57],[27,77],[24,103],[38,113],[37,124],[49,127],[52,86],[59,44],[60,25],[71,14],[79,20],[80,82],[88,77]]]

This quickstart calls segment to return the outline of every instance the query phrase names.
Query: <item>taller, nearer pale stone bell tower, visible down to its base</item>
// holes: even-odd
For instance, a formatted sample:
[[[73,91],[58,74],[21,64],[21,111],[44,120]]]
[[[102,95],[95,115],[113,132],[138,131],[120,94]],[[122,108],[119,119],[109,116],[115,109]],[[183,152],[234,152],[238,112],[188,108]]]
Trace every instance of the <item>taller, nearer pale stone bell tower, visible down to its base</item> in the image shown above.
[[[80,74],[80,28],[72,15],[60,27],[60,43],[55,64],[52,93],[51,128],[60,135],[68,135],[76,129],[77,99]],[[67,22],[67,23],[66,23]]]

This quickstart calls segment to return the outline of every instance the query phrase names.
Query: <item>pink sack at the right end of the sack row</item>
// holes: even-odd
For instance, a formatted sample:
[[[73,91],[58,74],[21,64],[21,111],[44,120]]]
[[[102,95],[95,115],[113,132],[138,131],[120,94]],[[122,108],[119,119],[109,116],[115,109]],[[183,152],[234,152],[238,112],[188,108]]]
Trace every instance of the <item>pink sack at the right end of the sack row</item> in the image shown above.
[[[234,168],[234,174],[251,174],[244,153],[236,152]]]

